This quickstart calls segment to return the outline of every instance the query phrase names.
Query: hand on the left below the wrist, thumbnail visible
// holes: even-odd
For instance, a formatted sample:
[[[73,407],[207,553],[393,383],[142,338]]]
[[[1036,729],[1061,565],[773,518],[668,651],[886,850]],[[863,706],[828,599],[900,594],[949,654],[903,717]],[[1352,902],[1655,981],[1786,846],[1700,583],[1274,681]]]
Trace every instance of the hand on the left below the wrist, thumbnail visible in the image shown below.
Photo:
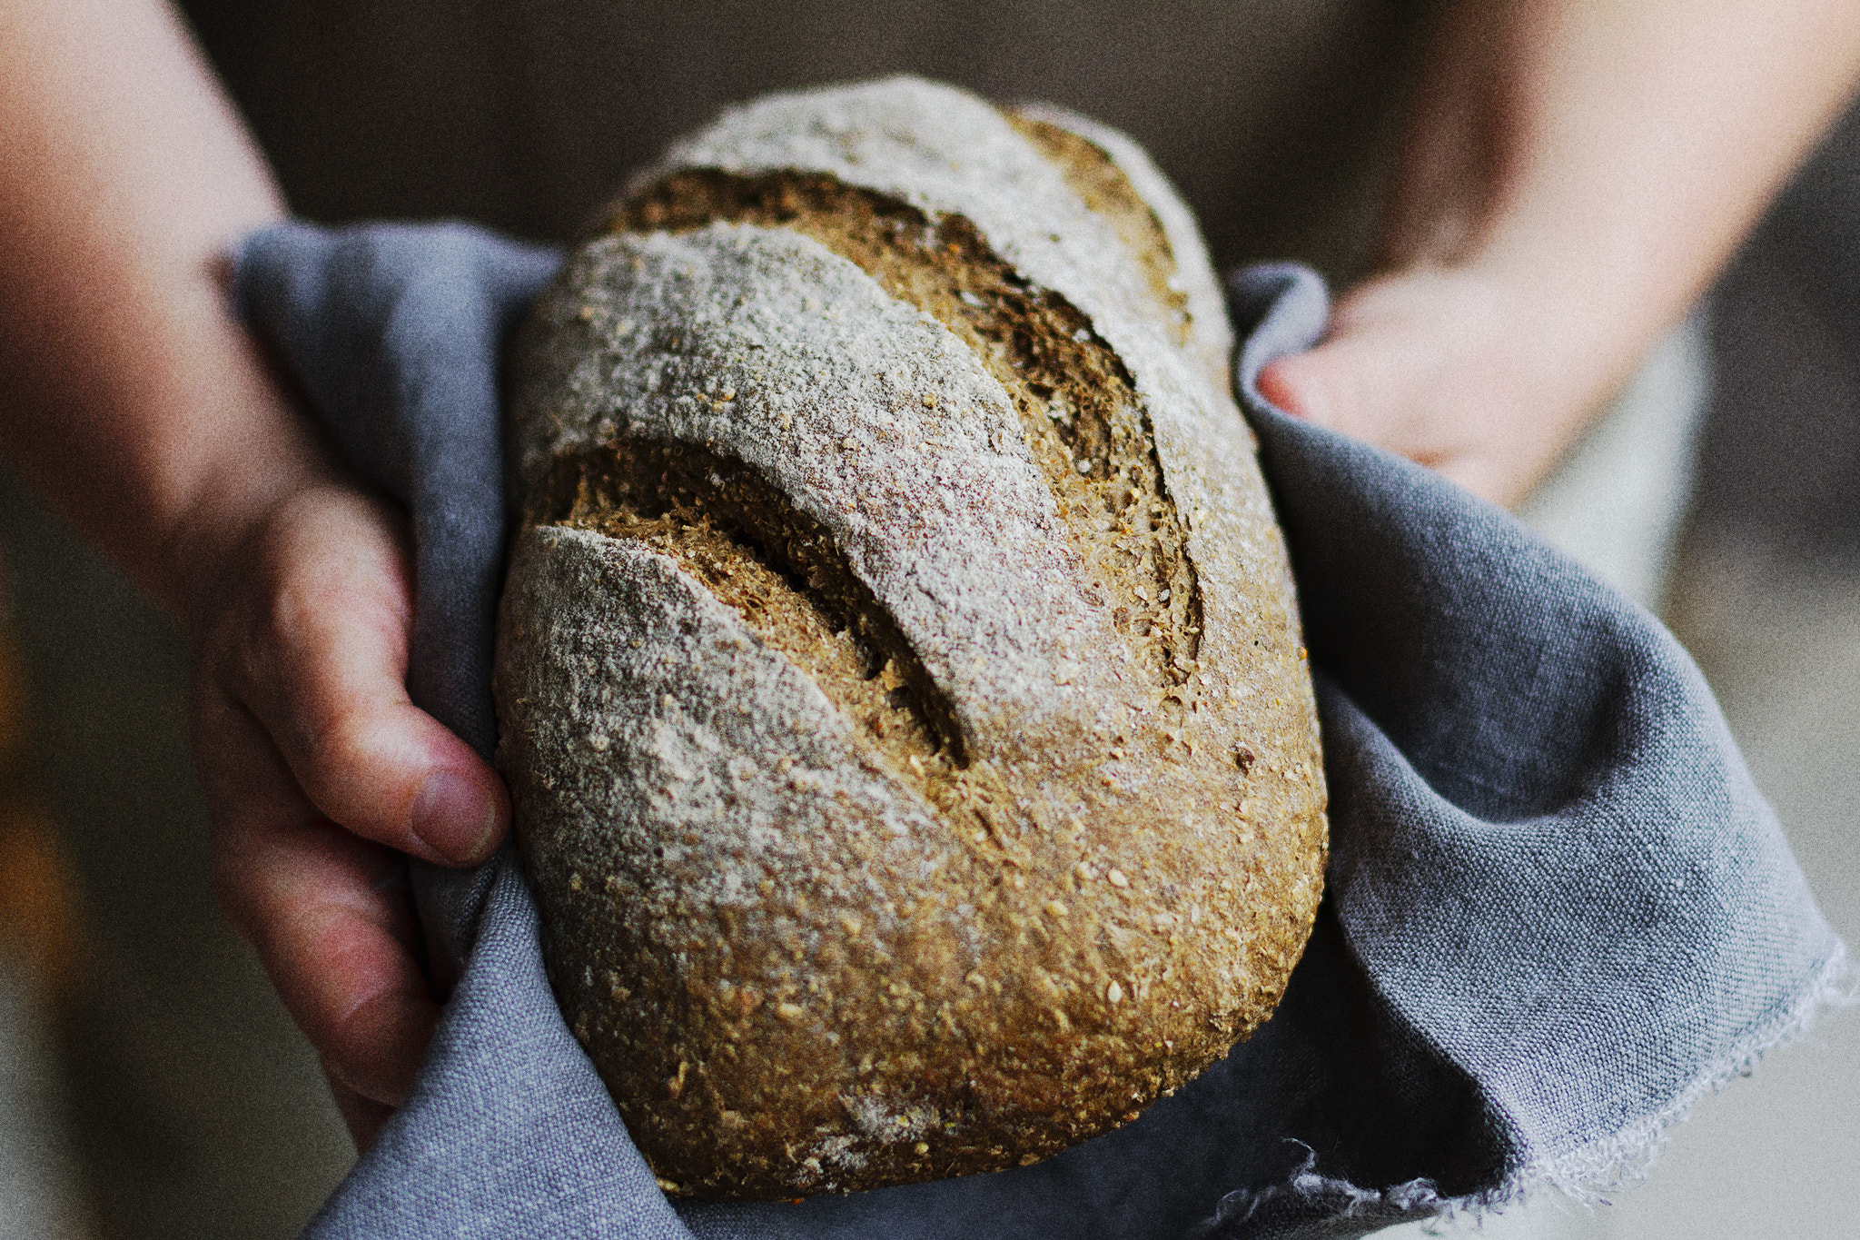
[[[212,597],[192,716],[219,902],[366,1149],[439,1017],[404,853],[482,861],[510,798],[407,701],[411,567],[387,504],[335,481],[286,493]]]

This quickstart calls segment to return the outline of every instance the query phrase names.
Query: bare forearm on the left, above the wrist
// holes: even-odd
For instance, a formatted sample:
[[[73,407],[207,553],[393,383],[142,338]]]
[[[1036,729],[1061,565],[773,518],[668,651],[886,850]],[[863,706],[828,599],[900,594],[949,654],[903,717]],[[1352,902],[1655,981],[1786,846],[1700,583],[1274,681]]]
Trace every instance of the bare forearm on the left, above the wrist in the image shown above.
[[[227,312],[219,258],[283,214],[160,0],[0,7],[0,450],[188,619],[320,468]]]

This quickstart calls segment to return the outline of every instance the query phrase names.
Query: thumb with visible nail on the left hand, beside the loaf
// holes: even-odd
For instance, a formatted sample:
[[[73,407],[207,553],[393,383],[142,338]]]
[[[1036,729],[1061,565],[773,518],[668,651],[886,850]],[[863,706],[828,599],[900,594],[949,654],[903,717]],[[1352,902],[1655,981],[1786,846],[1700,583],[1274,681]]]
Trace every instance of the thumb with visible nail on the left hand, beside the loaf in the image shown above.
[[[262,552],[262,610],[227,660],[298,785],[370,840],[445,864],[491,855],[510,824],[497,773],[405,692],[411,584],[387,513],[311,493]]]

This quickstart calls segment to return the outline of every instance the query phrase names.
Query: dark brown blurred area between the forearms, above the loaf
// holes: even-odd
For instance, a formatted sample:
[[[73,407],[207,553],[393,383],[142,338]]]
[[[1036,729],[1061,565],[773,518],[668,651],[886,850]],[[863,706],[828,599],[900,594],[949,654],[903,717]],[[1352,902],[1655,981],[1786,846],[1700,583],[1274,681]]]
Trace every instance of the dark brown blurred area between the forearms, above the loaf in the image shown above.
[[[727,102],[917,73],[1129,132],[1216,258],[1335,273],[1425,7],[1395,0],[182,6],[311,219],[569,236]]]

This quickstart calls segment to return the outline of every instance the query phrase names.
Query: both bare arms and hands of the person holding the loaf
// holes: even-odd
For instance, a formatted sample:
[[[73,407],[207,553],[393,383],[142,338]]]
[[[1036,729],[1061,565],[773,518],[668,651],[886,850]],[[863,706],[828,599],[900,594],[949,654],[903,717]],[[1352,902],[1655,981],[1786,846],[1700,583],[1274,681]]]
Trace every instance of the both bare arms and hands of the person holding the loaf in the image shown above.
[[[1449,6],[1382,271],[1267,394],[1516,500],[1856,61],[1847,4]],[[400,855],[485,857],[508,796],[407,701],[402,515],[227,312],[221,255],[285,206],[173,13],[0,0],[0,452],[182,625],[221,907],[365,1147],[437,1019]]]

